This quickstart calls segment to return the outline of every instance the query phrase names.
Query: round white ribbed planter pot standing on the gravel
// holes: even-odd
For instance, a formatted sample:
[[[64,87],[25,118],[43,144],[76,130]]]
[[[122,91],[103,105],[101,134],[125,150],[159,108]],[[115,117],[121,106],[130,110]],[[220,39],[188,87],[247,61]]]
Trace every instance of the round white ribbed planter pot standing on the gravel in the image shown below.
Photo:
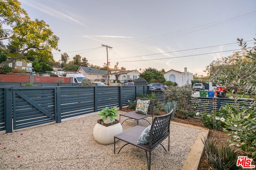
[[[93,129],[94,139],[100,144],[112,144],[114,143],[114,136],[123,131],[120,123],[105,127],[97,123]],[[116,139],[117,141],[117,139]]]

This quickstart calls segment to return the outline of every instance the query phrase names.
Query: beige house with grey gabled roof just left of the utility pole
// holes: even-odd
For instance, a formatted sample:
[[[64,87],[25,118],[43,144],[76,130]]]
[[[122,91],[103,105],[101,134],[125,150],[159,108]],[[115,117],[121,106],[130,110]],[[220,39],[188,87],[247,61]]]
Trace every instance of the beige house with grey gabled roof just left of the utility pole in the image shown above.
[[[93,80],[93,81],[103,80],[102,82],[105,82],[104,80],[106,80],[108,77],[108,71],[100,70],[94,67],[80,66],[76,72],[84,75],[86,79]]]

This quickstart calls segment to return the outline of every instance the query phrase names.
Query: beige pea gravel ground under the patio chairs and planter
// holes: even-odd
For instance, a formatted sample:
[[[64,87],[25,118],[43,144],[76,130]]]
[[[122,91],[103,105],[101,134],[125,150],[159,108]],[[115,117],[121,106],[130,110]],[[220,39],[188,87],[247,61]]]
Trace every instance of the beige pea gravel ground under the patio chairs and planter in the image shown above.
[[[103,145],[94,140],[93,128],[98,115],[52,123],[0,134],[0,169],[85,169],[147,170],[146,153],[132,145],[114,154],[114,144]],[[118,118],[119,119],[119,118]],[[140,121],[141,126],[148,126]],[[136,126],[126,121],[123,131]],[[170,152],[158,146],[151,154],[152,170],[180,170],[200,130],[171,124]],[[116,150],[125,144],[116,143]],[[168,138],[162,143],[168,149]]]

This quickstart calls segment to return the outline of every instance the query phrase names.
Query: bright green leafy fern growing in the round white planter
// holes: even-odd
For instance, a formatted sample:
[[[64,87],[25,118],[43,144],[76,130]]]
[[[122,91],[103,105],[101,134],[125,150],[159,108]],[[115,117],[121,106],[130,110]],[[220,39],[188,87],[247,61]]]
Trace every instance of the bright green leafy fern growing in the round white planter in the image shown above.
[[[106,107],[102,109],[98,115],[102,116],[103,123],[112,123],[114,117],[118,117],[117,111],[116,107],[112,107],[111,109]]]

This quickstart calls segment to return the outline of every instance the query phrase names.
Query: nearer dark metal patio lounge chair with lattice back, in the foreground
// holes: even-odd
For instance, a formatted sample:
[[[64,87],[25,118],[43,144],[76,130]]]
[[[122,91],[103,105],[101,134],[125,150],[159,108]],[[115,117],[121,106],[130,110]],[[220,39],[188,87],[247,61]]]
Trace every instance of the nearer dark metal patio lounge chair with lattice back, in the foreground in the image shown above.
[[[114,154],[116,154],[116,138],[126,142],[124,146],[127,144],[132,144],[139,148],[142,148],[146,151],[148,170],[150,170],[151,166],[151,152],[158,146],[159,144],[163,146],[161,143],[168,137],[168,151],[170,151],[170,121],[172,116],[172,111],[166,115],[155,116],[150,128],[150,136],[148,144],[137,144],[137,140],[140,137],[140,134],[145,130],[145,127],[136,126],[130,128],[120,134],[114,136]],[[122,146],[120,150],[124,147]],[[164,146],[163,146],[164,148]],[[117,154],[119,154],[120,150]],[[164,148],[165,152],[166,149]],[[148,158],[148,152],[149,158]]]

